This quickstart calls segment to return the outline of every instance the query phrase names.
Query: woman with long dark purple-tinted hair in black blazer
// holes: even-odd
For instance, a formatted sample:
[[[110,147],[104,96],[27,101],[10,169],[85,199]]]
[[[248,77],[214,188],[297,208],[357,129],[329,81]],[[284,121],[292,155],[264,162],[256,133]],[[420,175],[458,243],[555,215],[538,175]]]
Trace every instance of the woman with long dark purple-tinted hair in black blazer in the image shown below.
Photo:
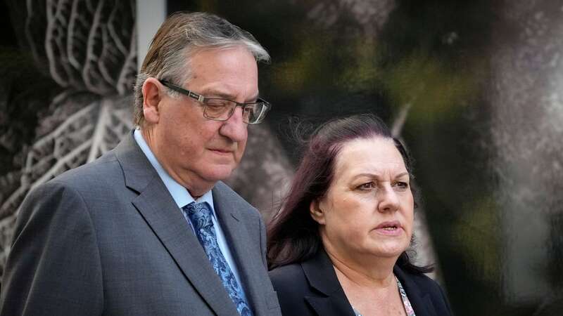
[[[451,315],[410,263],[414,198],[407,152],[372,114],[313,134],[268,228],[270,277],[284,315]]]

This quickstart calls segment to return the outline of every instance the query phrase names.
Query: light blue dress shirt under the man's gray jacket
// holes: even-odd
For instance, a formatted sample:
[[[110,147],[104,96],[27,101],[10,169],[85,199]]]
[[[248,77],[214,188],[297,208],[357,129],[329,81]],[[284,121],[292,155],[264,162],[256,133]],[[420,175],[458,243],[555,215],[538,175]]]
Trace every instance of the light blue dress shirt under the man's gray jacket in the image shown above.
[[[154,169],[156,169],[158,176],[160,176],[160,179],[163,180],[163,183],[168,189],[168,192],[170,192],[170,195],[172,195],[172,199],[174,199],[174,202],[176,202],[179,212],[182,212],[182,207],[190,204],[191,202],[197,202],[197,203],[208,202],[208,204],[211,206],[211,212],[213,213],[213,217],[211,218],[211,220],[213,221],[213,228],[215,228],[215,234],[217,235],[217,244],[219,244],[219,248],[221,249],[221,252],[225,260],[229,264],[229,267],[231,268],[234,277],[236,278],[236,282],[239,282],[239,284],[241,284],[241,287],[244,289],[244,284],[241,283],[241,279],[239,277],[239,270],[237,270],[236,268],[236,264],[234,262],[234,258],[231,254],[231,251],[229,249],[229,244],[227,243],[227,239],[225,239],[224,237],[224,233],[223,230],[221,229],[221,225],[219,225],[219,223],[217,222],[217,215],[215,214],[215,206],[213,206],[213,195],[211,190],[205,192],[205,194],[199,197],[197,200],[194,199],[194,197],[191,197],[188,190],[186,190],[185,187],[177,183],[176,180],[174,180],[163,169],[163,166],[160,165],[155,155],[153,154],[151,148],[148,147],[146,141],[143,138],[143,135],[141,134],[141,131],[139,129],[135,129],[133,136],[135,138],[135,141],[137,141],[137,145],[139,145],[139,147],[141,147],[141,150],[144,152],[146,158],[148,159],[148,162],[151,162],[151,165],[154,167]],[[191,227],[191,230],[194,231],[194,227],[191,226],[191,223],[189,223],[189,225]],[[195,233],[196,232],[194,232],[194,234]]]

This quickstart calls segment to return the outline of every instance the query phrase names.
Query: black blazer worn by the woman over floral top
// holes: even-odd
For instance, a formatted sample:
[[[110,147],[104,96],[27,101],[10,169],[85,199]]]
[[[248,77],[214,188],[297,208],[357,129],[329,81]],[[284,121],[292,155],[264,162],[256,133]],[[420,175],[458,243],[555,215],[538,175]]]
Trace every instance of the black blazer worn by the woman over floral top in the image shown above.
[[[393,272],[403,285],[417,316],[452,315],[441,287],[423,274],[412,274],[397,265]],[[354,316],[336,272],[324,250],[302,263],[270,271],[284,316]]]

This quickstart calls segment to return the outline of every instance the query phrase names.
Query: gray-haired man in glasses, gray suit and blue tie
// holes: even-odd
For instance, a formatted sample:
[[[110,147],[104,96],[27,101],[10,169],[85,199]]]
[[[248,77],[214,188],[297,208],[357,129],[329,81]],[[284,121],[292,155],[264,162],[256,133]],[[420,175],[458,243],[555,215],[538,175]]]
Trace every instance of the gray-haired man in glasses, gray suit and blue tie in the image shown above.
[[[206,13],[163,23],[135,87],[138,129],[30,193],[1,315],[280,315],[258,211],[221,182],[258,98],[246,31]]]

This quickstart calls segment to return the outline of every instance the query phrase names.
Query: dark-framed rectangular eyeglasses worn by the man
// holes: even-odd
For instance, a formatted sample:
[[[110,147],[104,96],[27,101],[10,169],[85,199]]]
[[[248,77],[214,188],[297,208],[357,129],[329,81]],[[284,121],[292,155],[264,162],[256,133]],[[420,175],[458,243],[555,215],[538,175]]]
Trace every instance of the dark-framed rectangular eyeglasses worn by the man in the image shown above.
[[[267,103],[267,101],[260,98],[256,100],[256,102],[250,103],[238,103],[232,100],[224,100],[220,98],[205,98],[204,96],[200,96],[197,93],[186,90],[181,86],[171,84],[168,81],[158,81],[160,81],[160,84],[163,84],[163,86],[166,86],[173,91],[198,100],[203,105],[203,117],[213,119],[215,121],[227,121],[229,117],[232,117],[234,109],[238,106],[242,107],[242,120],[245,123],[258,124],[264,120],[266,113],[272,108],[270,103]]]

